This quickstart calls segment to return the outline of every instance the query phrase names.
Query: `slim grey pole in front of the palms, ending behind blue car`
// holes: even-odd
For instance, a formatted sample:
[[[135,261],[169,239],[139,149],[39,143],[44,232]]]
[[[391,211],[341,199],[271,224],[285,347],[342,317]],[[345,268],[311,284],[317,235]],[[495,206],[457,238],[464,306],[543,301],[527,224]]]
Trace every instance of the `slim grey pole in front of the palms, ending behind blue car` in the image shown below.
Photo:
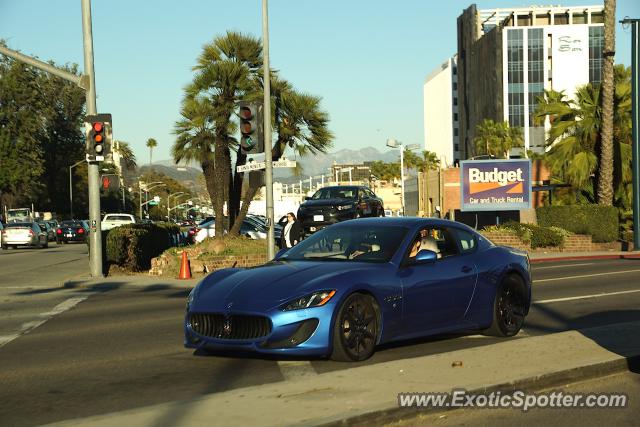
[[[264,181],[267,199],[267,260],[276,255],[273,219],[273,157],[271,156],[271,71],[269,69],[269,13],[267,0],[262,0],[262,41],[264,61]]]

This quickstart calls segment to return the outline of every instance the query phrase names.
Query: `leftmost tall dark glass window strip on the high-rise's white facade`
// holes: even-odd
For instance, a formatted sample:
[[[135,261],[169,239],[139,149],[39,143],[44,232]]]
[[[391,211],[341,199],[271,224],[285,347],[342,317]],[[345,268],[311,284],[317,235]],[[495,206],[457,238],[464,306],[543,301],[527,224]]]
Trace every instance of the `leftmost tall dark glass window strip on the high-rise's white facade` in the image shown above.
[[[524,126],[524,46],[522,29],[507,32],[507,92],[509,126]]]

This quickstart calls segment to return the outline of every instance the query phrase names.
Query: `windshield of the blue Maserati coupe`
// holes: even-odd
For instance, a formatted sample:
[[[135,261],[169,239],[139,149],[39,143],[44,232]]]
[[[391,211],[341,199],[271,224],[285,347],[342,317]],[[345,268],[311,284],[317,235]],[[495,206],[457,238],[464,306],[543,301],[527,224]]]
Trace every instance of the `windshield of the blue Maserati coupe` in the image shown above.
[[[399,226],[328,227],[280,257],[290,261],[389,262],[407,234]]]

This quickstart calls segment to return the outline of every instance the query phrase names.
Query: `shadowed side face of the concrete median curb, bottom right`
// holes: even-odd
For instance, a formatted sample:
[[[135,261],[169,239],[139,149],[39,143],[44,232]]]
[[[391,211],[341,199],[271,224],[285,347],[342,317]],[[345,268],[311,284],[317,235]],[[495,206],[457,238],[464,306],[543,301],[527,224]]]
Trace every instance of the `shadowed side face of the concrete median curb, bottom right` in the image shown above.
[[[550,374],[524,378],[518,381],[497,384],[489,387],[482,387],[467,390],[469,394],[489,394],[492,392],[501,392],[503,394],[514,392],[516,390],[525,390],[529,392],[542,391],[548,388],[558,387],[564,384],[577,382],[578,380],[589,380],[593,378],[604,377],[621,372],[627,372],[629,366],[640,364],[640,354],[629,358],[609,360],[606,362],[595,363],[593,365],[581,366],[578,368],[567,369],[565,371],[552,372]],[[323,427],[343,427],[343,426],[370,426],[376,423],[392,423],[399,421],[407,421],[421,415],[431,415],[465,409],[462,407],[454,408],[401,408],[393,406],[391,408],[372,411],[367,414],[361,414],[350,418],[344,418],[340,421],[333,421],[324,424],[314,424]]]

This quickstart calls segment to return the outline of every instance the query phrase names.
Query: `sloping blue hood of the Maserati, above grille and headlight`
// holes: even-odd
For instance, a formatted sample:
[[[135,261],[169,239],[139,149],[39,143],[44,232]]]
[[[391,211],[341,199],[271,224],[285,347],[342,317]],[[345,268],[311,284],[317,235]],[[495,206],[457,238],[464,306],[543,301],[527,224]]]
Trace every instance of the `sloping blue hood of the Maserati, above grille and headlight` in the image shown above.
[[[220,270],[207,276],[197,288],[193,311],[259,311],[321,289],[339,289],[364,277],[370,263],[275,261],[247,269]],[[340,276],[350,280],[341,280]],[[231,304],[231,307],[229,305]]]

